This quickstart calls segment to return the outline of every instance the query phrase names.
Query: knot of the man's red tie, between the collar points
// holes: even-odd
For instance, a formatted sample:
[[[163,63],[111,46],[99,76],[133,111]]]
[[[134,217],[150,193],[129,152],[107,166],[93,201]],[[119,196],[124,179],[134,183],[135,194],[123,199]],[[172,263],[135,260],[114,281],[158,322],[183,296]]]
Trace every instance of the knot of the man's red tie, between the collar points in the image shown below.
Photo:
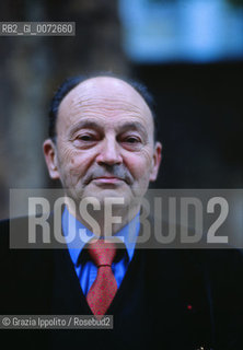
[[[101,265],[112,266],[116,255],[116,245],[112,242],[97,240],[89,244],[89,253],[94,264],[100,267]]]

